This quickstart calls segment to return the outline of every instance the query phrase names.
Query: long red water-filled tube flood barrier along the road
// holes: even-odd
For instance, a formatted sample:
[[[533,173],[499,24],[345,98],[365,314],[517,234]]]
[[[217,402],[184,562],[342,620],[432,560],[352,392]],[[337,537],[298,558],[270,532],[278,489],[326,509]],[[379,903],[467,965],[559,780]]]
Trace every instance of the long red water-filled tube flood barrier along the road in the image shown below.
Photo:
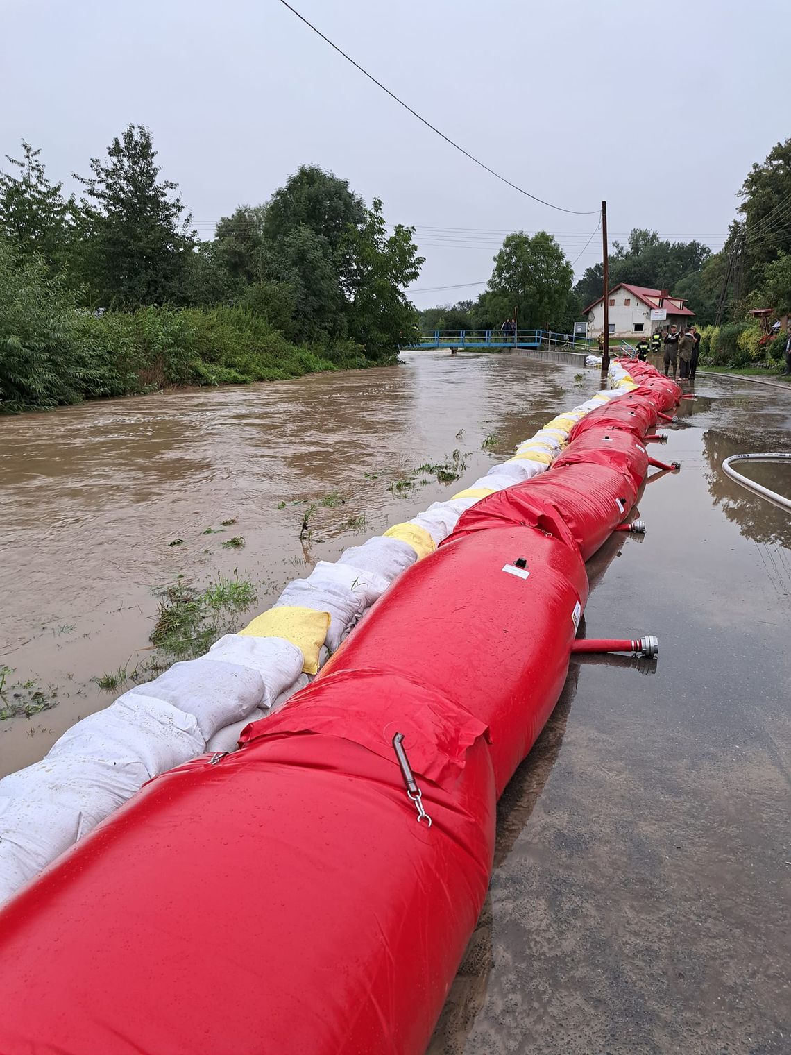
[[[497,797],[566,676],[582,554],[644,472],[625,435],[634,455],[586,429],[575,460],[469,510],[239,751],[155,779],[21,891],[0,913],[0,1055],[424,1052]]]

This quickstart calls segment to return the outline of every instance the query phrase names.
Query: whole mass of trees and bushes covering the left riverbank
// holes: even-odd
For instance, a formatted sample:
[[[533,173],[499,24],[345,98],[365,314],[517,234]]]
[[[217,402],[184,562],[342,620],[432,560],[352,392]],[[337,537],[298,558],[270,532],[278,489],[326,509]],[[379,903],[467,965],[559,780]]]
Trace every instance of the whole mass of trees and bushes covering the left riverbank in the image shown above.
[[[6,158],[0,410],[383,363],[416,330],[413,230],[332,173],[302,167],[201,242],[143,127],[73,174],[80,197],[30,143]]]

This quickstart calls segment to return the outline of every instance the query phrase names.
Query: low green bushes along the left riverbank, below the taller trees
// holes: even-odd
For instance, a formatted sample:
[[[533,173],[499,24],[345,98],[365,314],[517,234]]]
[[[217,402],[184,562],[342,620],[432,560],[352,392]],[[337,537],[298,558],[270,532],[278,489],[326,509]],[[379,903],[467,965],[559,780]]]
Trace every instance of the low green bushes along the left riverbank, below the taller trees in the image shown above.
[[[366,365],[360,345],[296,345],[243,306],[97,318],[42,262],[18,260],[0,239],[0,411]]]

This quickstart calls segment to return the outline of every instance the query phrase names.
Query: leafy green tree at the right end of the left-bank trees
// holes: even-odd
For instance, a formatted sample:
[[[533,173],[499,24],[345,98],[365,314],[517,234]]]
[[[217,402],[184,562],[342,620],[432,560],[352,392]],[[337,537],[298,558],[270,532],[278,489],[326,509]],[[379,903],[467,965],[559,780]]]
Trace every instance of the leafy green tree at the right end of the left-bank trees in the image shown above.
[[[414,337],[419,315],[404,290],[420,274],[425,257],[418,255],[413,235],[413,227],[398,224],[388,236],[382,202],[374,198],[363,223],[349,225],[339,246],[348,333],[368,359],[396,356]]]

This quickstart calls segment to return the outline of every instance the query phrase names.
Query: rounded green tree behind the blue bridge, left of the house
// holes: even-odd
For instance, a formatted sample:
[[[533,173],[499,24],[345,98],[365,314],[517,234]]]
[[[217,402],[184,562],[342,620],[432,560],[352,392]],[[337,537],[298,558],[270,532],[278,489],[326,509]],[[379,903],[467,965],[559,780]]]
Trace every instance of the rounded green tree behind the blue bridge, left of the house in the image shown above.
[[[568,311],[573,277],[572,266],[552,234],[508,234],[477,313],[486,325],[497,327],[513,318],[516,308],[520,328],[559,328]]]

